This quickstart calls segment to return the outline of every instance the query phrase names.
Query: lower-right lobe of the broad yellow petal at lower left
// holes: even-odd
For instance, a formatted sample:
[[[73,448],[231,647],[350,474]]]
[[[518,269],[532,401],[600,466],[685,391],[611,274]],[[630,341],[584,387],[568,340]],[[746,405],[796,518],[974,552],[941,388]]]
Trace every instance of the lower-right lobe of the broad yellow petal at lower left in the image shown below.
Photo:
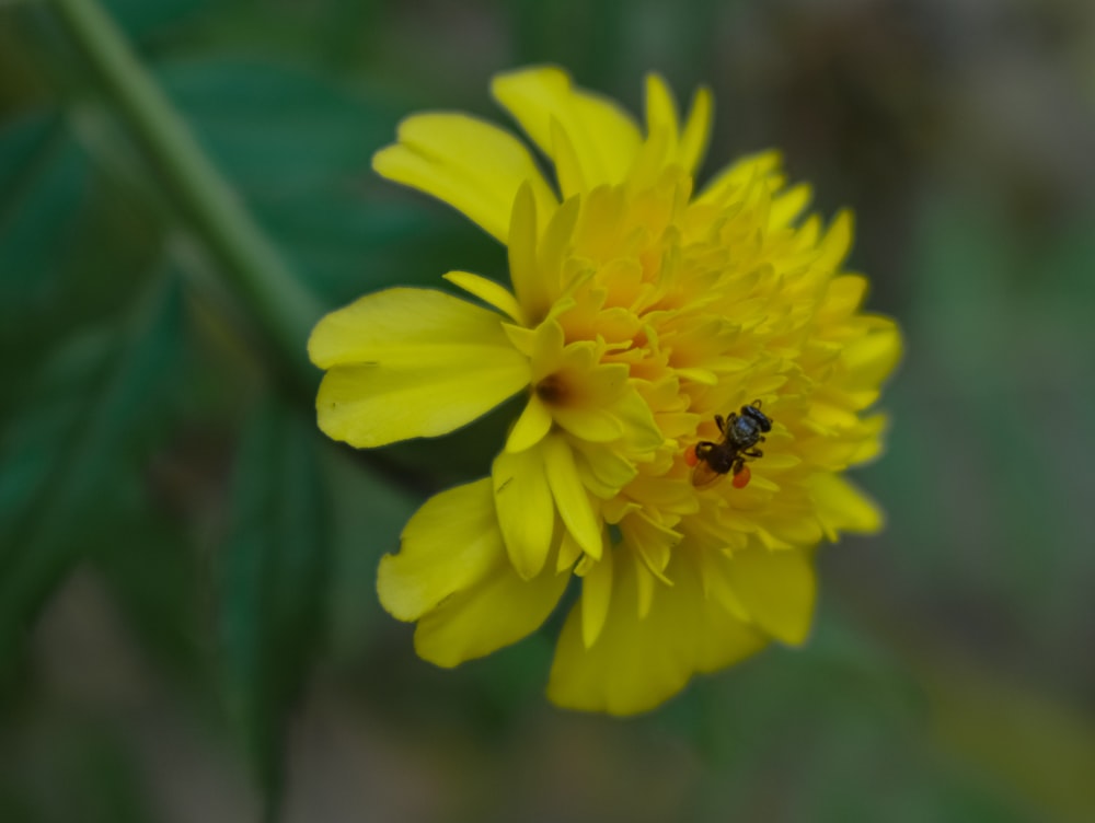
[[[451,668],[517,642],[540,628],[568,580],[568,575],[548,568],[526,581],[503,561],[418,621],[415,651],[424,660]]]

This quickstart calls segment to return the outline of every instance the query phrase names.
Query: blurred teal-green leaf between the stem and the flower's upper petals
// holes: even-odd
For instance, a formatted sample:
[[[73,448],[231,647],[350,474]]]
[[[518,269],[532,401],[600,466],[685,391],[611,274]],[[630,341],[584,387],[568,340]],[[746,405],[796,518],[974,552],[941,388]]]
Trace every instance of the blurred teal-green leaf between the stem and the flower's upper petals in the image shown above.
[[[295,270],[330,303],[396,282],[436,286],[456,262],[505,273],[504,250],[461,216],[372,171],[405,104],[270,61],[172,62],[158,78]]]

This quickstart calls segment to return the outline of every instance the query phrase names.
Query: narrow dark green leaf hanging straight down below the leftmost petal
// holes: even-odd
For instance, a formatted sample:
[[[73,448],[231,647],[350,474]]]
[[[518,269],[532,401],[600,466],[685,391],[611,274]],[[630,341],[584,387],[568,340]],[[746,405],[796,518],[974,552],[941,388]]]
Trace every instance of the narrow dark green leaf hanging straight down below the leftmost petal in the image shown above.
[[[270,819],[281,799],[286,712],[307,681],[325,624],[327,494],[319,442],[310,417],[276,402],[249,420],[220,558],[226,697]]]

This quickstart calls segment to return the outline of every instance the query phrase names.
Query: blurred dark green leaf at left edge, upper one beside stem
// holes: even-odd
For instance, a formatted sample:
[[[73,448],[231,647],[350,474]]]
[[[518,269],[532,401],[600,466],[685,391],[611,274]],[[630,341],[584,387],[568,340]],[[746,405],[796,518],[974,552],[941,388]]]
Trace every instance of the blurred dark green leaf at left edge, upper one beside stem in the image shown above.
[[[56,114],[0,130],[0,421],[74,328],[118,323],[161,255],[147,211],[119,197]],[[18,352],[18,356],[14,356]]]

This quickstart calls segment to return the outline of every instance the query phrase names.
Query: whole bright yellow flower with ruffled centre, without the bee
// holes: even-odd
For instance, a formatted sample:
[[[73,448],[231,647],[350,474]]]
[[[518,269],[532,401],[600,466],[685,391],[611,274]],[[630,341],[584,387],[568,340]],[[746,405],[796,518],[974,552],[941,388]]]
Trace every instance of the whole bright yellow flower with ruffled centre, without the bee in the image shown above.
[[[645,135],[556,68],[500,74],[492,92],[556,185],[522,142],[463,114],[410,117],[373,165],[506,244],[512,289],[451,271],[488,308],[395,288],[324,317],[309,344],[326,370],[319,425],[378,447],[525,392],[492,476],[428,500],[381,560],[381,603],[417,621],[418,654],[452,666],[537,629],[577,577],[548,695],[643,711],[770,639],[805,640],[814,546],[881,524],[842,473],[879,451],[884,419],[864,410],[900,335],[860,311],[866,280],[842,269],[850,215],[804,218],[810,189],[787,186],[776,153],[695,194],[706,90],[682,125],[650,77]],[[754,402],[771,421],[762,456],[762,430],[739,421],[714,447],[744,459],[718,470],[734,483],[700,482],[716,474],[713,447],[695,451],[723,441],[716,415],[748,418]]]

